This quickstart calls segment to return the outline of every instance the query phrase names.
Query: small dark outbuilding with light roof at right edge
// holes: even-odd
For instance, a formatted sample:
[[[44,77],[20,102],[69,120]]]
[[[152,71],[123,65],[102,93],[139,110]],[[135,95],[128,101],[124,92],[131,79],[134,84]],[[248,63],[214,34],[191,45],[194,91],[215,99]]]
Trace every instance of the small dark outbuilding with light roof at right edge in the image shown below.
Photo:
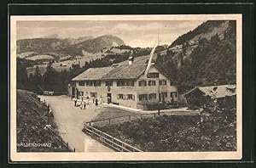
[[[236,108],[236,85],[195,87],[183,94],[190,109]]]

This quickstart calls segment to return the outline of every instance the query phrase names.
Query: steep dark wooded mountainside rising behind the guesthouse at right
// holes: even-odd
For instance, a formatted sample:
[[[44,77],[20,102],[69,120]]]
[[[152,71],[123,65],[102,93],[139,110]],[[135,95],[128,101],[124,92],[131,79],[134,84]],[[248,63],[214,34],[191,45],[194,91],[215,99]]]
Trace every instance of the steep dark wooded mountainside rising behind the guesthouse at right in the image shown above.
[[[236,21],[207,21],[158,56],[156,64],[177,81],[180,92],[236,83]]]

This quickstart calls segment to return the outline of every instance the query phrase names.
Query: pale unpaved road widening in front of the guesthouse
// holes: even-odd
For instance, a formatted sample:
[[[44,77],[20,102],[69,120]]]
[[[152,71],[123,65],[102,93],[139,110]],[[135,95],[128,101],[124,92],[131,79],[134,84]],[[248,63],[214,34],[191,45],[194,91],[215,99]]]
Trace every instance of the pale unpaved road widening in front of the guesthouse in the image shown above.
[[[90,136],[82,132],[84,121],[93,119],[101,113],[102,106],[94,104],[86,106],[86,109],[74,107],[73,101],[66,96],[38,96],[41,101],[49,104],[55,116],[55,122],[61,137],[68,142],[76,152],[114,152],[113,149],[104,146]]]

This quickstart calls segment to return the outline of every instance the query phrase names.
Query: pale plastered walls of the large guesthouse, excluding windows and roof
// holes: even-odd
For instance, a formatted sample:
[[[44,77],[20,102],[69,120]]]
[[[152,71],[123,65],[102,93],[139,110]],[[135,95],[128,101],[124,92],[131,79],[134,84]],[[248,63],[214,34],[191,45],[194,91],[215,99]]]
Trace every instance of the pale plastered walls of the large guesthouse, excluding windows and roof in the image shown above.
[[[159,72],[154,66],[151,66],[151,68],[148,70],[148,72]],[[146,87],[139,86],[139,81],[147,81]],[[166,86],[159,86],[159,80],[166,80]],[[132,81],[132,80],[125,80],[125,81]],[[134,80],[133,80],[134,81]],[[148,81],[155,81],[155,86],[148,86]],[[176,86],[170,85],[170,80],[166,78],[166,76],[160,74],[160,79],[158,78],[148,78],[147,76],[141,76],[137,81],[134,81],[134,86],[132,87],[122,87],[117,86],[117,81],[113,81],[113,86],[110,87],[110,91],[108,91],[108,86],[106,86],[106,81],[101,81],[100,87],[94,87],[94,86],[86,86],[86,83],[84,86],[79,86],[79,81],[76,82],[75,86],[77,88],[78,92],[84,92],[84,96],[80,96],[79,93],[78,98],[86,98],[87,96],[90,97],[90,92],[96,92],[97,98],[100,98],[102,95],[102,101],[107,102],[107,93],[111,93],[111,100],[113,103],[118,103],[120,105],[124,105],[127,107],[137,108],[137,104],[151,104],[155,103],[157,104],[159,102],[159,91],[160,92],[166,92],[167,97],[165,98],[165,101],[171,101],[171,92],[177,92]],[[140,94],[149,94],[149,93],[155,93],[156,98],[148,101],[140,101],[139,95]],[[121,99],[118,98],[118,94],[123,94],[124,97],[127,94],[132,94],[134,96],[133,99]],[[178,100],[177,97],[174,98],[175,101]]]

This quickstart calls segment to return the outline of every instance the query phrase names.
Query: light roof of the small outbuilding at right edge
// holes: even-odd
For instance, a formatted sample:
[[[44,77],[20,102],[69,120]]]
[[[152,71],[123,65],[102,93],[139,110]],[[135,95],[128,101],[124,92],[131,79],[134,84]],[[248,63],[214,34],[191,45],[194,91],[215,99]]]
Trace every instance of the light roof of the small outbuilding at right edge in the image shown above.
[[[219,85],[211,87],[195,87],[189,92],[186,92],[184,96],[188,96],[192,92],[195,92],[197,89],[203,92],[204,96],[210,96],[212,98],[224,98],[226,96],[236,95],[236,85]]]

